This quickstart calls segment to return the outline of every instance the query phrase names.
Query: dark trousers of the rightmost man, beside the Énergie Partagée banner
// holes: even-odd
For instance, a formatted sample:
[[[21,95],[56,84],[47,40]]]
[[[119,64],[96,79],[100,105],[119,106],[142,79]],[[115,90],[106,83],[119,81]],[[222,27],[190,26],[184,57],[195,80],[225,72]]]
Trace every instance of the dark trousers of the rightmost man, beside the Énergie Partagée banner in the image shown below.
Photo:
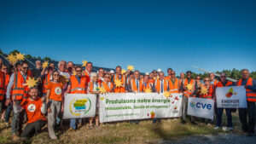
[[[253,133],[255,126],[255,102],[247,101],[247,108],[239,108],[238,111],[241,129],[245,132]]]

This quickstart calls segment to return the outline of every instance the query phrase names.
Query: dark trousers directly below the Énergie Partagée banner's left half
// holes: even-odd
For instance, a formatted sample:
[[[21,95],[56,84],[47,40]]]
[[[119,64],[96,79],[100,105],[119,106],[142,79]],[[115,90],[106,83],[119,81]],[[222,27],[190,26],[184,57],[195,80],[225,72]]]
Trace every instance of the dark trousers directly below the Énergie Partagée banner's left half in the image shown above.
[[[216,126],[220,127],[222,123],[222,114],[223,114],[224,108],[216,108]],[[231,109],[225,108],[227,119],[228,119],[228,127],[233,127],[232,123],[232,115],[231,115]]]

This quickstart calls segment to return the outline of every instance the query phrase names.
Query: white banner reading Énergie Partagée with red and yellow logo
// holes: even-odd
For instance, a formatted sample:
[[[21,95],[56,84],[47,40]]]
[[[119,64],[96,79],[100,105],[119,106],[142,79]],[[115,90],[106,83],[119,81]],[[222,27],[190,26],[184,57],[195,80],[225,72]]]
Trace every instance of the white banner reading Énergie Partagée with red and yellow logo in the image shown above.
[[[247,107],[247,95],[244,86],[220,87],[216,89],[217,107]]]

